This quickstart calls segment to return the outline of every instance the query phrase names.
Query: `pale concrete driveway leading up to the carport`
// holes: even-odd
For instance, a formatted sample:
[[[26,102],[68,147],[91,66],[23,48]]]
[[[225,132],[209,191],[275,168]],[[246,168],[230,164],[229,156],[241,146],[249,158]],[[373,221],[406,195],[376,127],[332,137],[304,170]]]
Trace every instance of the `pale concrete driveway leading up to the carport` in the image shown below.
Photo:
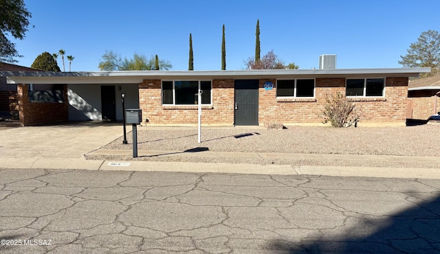
[[[131,126],[127,126],[127,132]],[[1,157],[83,158],[123,135],[122,123],[69,122],[52,126],[27,126],[0,131]]]

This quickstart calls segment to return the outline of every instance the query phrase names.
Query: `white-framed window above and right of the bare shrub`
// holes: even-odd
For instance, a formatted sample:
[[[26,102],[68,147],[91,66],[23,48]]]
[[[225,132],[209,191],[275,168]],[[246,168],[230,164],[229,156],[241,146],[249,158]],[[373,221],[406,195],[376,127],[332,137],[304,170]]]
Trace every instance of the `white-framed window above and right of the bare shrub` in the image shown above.
[[[345,95],[383,97],[385,78],[347,78]]]

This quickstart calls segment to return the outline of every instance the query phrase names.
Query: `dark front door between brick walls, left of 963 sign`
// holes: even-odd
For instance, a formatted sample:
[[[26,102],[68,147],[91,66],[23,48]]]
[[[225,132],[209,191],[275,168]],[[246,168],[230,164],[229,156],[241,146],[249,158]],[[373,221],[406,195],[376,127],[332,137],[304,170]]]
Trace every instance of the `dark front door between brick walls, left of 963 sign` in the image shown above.
[[[235,80],[235,125],[259,125],[259,80]]]

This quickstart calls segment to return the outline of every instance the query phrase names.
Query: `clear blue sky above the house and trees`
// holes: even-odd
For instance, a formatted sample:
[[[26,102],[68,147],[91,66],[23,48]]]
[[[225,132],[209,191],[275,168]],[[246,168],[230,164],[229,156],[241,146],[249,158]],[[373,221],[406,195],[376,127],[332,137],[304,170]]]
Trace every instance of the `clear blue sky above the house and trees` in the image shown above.
[[[423,3],[423,5],[420,5]],[[25,0],[29,31],[16,43],[18,65],[64,49],[72,71],[99,71],[107,50],[135,52],[188,69],[192,33],[195,70],[221,69],[225,24],[226,69],[243,69],[254,56],[260,20],[261,56],[267,51],[300,69],[318,68],[321,54],[336,54],[338,69],[401,67],[397,61],[421,32],[440,30],[440,1],[410,0]],[[34,25],[35,27],[32,27]],[[61,58],[58,65],[63,69]],[[66,71],[69,69],[65,60]]]

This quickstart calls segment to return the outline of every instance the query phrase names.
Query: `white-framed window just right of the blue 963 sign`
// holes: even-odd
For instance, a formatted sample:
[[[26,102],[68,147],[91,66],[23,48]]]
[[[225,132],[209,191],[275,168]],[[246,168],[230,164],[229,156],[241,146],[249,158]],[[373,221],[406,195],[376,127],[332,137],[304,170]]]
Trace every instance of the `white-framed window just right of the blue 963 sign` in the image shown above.
[[[315,79],[276,80],[276,97],[315,97]]]

